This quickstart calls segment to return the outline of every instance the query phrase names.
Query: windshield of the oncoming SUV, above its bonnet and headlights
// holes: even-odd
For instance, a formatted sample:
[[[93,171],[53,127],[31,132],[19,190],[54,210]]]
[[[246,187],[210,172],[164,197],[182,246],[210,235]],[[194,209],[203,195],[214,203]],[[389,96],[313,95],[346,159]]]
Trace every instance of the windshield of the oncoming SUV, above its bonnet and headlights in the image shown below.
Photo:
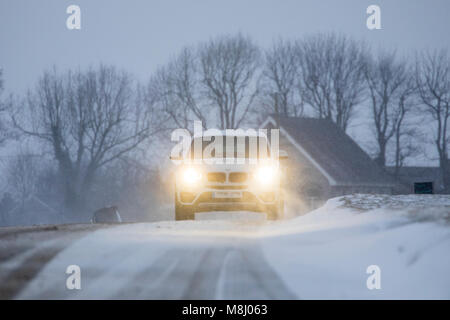
[[[211,136],[192,140],[190,156],[194,158],[194,145],[202,146],[195,158],[267,158],[270,147],[263,136]]]

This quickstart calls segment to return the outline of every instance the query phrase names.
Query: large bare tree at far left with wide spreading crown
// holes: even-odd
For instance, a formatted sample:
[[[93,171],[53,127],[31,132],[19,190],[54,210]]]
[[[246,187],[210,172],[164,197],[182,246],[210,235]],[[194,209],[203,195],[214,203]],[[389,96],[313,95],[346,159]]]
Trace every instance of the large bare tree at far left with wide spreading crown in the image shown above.
[[[65,202],[83,209],[97,171],[135,150],[159,129],[126,72],[45,72],[13,121],[51,146],[64,179]]]

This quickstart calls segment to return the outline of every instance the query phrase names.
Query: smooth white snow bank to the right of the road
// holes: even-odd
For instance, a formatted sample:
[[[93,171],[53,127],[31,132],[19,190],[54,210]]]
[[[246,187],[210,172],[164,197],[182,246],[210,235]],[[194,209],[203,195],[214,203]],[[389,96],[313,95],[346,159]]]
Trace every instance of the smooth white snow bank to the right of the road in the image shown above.
[[[266,258],[304,299],[450,299],[449,196],[351,195],[261,230]],[[367,267],[381,269],[369,290]]]

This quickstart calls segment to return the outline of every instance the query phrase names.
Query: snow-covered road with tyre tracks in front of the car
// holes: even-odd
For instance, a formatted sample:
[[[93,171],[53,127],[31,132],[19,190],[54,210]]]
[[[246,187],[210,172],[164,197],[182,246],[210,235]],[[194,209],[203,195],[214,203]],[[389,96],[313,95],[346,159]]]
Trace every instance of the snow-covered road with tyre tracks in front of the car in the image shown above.
[[[61,251],[18,298],[295,298],[264,258],[260,227],[196,221],[98,230]],[[72,264],[81,268],[81,290],[66,289]]]

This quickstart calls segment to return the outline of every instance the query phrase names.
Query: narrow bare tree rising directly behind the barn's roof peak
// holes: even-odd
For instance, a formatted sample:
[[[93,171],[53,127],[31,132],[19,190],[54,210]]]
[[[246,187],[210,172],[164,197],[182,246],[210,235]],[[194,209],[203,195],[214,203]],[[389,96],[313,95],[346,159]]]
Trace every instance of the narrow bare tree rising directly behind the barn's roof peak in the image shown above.
[[[298,94],[298,58],[296,46],[282,39],[265,51],[260,100],[268,113],[293,117],[303,114]]]

